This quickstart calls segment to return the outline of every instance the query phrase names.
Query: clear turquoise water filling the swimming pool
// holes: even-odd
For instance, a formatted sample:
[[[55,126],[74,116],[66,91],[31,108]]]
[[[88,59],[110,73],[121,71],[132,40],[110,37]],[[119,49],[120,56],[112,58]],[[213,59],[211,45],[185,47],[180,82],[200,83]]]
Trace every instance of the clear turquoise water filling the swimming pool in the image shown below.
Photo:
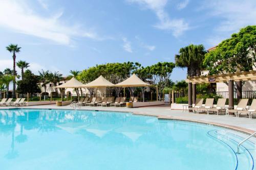
[[[0,169],[253,169],[254,139],[130,113],[0,110]]]

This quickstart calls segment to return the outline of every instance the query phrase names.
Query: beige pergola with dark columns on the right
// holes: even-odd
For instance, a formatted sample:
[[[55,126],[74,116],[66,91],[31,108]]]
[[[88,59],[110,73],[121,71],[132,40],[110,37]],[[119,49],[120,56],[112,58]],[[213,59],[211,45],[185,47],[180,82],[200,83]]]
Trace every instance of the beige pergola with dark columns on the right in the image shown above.
[[[234,82],[237,82],[237,99],[242,99],[242,81],[256,80],[256,70],[234,72],[221,75],[188,77],[188,105],[196,103],[197,83],[228,82],[229,107],[234,107]]]

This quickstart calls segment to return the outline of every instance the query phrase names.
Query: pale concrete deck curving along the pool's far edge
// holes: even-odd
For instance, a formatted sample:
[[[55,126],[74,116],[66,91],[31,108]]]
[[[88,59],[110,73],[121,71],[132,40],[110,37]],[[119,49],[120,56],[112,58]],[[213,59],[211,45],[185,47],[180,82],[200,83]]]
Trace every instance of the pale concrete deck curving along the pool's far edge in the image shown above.
[[[15,107],[0,107],[0,109],[9,109]],[[68,106],[56,106],[56,105],[39,105],[39,106],[26,106],[19,108],[30,108],[30,109],[73,109]],[[232,115],[224,114],[196,114],[183,112],[182,110],[171,110],[169,105],[151,106],[151,107],[140,107],[140,108],[126,108],[126,107],[90,107],[82,106],[81,110],[99,110],[99,111],[121,111],[121,112],[132,112],[133,114],[156,116],[160,119],[175,119],[185,120],[191,122],[198,122],[204,124],[211,124],[216,126],[222,126],[245,133],[253,133],[256,131],[256,118],[249,119],[246,115],[236,117]]]

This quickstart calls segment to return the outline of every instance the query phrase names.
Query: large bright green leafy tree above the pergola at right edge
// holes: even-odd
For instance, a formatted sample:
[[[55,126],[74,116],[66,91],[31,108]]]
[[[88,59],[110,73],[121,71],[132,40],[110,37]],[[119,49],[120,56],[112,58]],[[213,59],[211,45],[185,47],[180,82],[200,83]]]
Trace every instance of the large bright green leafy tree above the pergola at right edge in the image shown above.
[[[205,55],[209,75],[248,71],[256,63],[256,26],[247,26]]]

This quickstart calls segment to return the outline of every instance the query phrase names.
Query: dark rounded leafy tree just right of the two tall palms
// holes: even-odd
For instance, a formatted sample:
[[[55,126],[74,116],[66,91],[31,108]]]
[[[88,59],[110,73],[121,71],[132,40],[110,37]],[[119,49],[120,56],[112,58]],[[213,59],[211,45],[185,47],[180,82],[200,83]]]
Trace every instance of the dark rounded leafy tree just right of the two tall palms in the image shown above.
[[[40,93],[38,86],[39,76],[32,74],[30,70],[24,72],[24,79],[17,81],[17,92],[21,94],[26,93]]]

